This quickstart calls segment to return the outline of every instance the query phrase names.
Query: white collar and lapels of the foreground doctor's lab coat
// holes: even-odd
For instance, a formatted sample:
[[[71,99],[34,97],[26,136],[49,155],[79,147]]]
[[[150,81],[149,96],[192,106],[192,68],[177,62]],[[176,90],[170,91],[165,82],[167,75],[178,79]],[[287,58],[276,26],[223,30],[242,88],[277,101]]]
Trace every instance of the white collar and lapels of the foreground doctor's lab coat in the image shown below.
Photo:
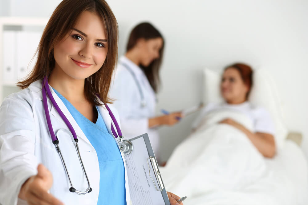
[[[65,104],[62,102],[62,100],[59,98],[59,96],[55,93],[55,91],[52,89],[50,85],[49,85],[49,88],[59,108],[61,109],[63,114],[67,117],[67,120],[71,123],[71,125],[75,129],[77,136],[83,139],[84,141],[86,141],[87,143],[91,144],[90,141],[85,136],[85,134],[83,133],[83,131],[81,130],[81,128],[79,127],[79,125],[77,124],[77,122],[75,121],[74,117],[71,115],[69,110],[66,108]],[[31,83],[29,86],[29,89],[32,91],[32,94],[34,95],[35,99],[43,101],[42,80],[38,80],[38,81]],[[48,97],[47,97],[47,101],[50,101]],[[63,119],[61,118],[61,116],[59,115],[59,113],[57,112],[53,104],[51,104],[51,107],[49,107],[48,109],[49,109],[49,112],[51,112],[51,114],[57,120],[65,124],[65,122],[63,121]],[[106,109],[104,104],[102,106],[99,106],[98,110],[101,116],[103,117],[103,120],[106,124],[108,132],[113,136],[113,133],[111,132],[111,124],[113,124],[114,128],[115,128],[115,125],[111,120],[108,110]]]

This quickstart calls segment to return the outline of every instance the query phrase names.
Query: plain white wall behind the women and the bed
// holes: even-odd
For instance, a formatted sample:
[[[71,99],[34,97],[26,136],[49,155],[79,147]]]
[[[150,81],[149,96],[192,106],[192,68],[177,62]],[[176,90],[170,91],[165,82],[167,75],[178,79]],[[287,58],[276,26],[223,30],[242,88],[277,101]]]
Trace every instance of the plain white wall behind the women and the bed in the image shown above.
[[[10,2],[11,15],[47,17],[60,0]],[[204,67],[219,70],[235,61],[254,68],[267,66],[285,105],[286,124],[304,134],[302,147],[308,156],[308,1],[107,2],[120,26],[120,55],[128,33],[141,21],[152,22],[165,37],[163,89],[157,111],[175,111],[199,103]],[[160,130],[163,159],[188,135],[193,118]]]

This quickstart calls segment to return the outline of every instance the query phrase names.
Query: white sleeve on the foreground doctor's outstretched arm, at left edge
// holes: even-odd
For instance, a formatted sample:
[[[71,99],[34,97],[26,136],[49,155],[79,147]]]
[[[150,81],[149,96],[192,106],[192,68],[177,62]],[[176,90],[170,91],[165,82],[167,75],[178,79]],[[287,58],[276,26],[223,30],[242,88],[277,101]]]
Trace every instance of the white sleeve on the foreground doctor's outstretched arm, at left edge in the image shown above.
[[[30,102],[14,93],[0,107],[0,204],[17,204],[22,184],[37,174],[34,143]]]

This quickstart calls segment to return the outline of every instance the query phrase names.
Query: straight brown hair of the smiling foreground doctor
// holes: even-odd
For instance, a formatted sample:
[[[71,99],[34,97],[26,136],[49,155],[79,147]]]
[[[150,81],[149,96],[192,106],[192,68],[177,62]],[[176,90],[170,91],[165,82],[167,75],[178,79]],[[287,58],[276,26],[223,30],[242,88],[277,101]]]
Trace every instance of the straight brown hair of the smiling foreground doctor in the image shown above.
[[[97,14],[106,30],[108,50],[106,60],[102,67],[93,75],[85,79],[84,92],[89,102],[99,105],[96,94],[99,95],[103,103],[110,103],[107,97],[112,73],[117,62],[118,55],[118,23],[107,2],[104,0],[63,0],[55,9],[49,19],[42,38],[40,40],[36,54],[38,54],[36,64],[25,80],[19,81],[21,89],[37,80],[42,80],[49,76],[55,67],[54,47],[63,37],[75,26],[79,15],[83,11]]]

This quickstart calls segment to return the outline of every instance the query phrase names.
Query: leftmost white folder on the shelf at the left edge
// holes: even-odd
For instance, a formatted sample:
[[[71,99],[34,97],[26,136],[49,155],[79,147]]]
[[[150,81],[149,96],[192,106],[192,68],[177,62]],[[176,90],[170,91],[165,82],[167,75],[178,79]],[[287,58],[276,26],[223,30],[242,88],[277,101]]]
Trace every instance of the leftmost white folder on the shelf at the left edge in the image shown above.
[[[3,31],[3,82],[15,83],[17,81],[15,68],[16,32]]]

